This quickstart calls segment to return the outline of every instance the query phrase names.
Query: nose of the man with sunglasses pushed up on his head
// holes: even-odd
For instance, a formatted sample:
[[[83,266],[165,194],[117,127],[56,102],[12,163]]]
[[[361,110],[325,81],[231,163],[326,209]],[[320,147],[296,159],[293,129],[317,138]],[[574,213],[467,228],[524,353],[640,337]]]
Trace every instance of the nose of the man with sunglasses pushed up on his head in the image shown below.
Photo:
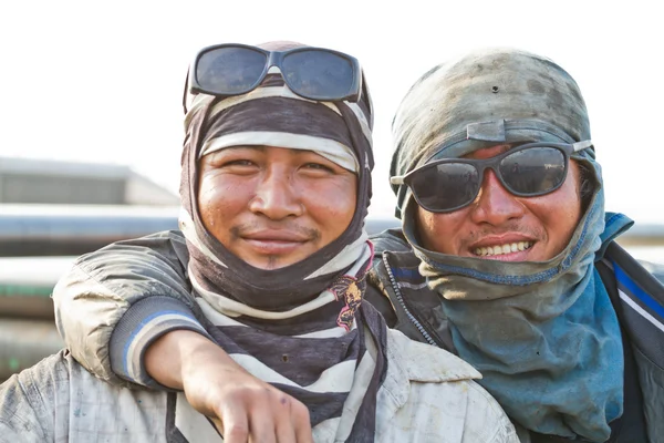
[[[291,178],[292,174],[289,172],[268,171],[259,178],[256,194],[249,202],[249,209],[273,220],[301,216],[304,206]]]

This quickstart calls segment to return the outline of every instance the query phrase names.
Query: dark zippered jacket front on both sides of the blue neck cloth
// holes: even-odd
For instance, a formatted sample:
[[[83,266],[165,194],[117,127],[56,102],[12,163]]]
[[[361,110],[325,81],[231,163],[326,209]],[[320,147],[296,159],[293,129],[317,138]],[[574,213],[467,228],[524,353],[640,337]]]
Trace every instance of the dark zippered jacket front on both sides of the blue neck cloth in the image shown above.
[[[418,271],[419,260],[401,231],[383,233],[374,238],[374,245],[370,281],[393,305],[395,313],[388,324],[414,340],[456,353],[438,295],[428,289]],[[644,420],[647,441],[664,442],[664,268],[637,262],[614,243],[604,245],[602,254],[595,267],[620,319],[623,341],[630,344],[625,347],[625,361],[634,363],[625,372],[625,389],[632,392],[627,393],[629,410],[623,418],[632,413],[642,415],[630,416],[630,422]],[[631,431],[624,430],[622,439],[616,441],[646,440],[630,435]],[[533,437],[533,441],[539,440]]]

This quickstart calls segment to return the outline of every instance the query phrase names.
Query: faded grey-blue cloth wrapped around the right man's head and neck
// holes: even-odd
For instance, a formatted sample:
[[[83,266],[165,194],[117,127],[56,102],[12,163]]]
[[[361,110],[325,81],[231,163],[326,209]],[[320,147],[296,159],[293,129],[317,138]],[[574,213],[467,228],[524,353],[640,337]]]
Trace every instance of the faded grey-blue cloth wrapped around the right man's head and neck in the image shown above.
[[[579,86],[562,68],[489,49],[424,74],[401,103],[393,135],[394,176],[496,144],[590,140],[590,124]],[[600,165],[592,150],[572,157],[591,171],[594,194],[570,243],[543,262],[428,250],[417,238],[411,192],[393,189],[421,272],[440,293],[455,347],[483,373],[480,383],[527,429],[604,441],[609,422],[622,414],[622,342],[593,267],[605,228]]]

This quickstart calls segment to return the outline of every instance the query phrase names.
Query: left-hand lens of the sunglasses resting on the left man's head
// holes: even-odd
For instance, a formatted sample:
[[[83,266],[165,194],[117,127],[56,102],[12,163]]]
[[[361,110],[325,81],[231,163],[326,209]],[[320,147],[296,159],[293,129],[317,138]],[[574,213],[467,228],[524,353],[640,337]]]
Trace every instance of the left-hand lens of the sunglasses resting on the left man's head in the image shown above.
[[[241,94],[258,81],[267,55],[249,48],[217,48],[198,59],[196,80],[201,89],[217,94]]]

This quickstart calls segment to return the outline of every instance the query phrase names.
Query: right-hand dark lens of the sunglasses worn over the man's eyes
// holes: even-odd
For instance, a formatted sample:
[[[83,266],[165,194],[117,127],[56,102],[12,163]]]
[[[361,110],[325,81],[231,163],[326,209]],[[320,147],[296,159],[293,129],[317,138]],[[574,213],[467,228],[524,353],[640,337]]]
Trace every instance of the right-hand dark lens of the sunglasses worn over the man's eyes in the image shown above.
[[[517,151],[502,158],[498,168],[510,190],[521,195],[546,194],[566,176],[564,155],[554,147]]]

